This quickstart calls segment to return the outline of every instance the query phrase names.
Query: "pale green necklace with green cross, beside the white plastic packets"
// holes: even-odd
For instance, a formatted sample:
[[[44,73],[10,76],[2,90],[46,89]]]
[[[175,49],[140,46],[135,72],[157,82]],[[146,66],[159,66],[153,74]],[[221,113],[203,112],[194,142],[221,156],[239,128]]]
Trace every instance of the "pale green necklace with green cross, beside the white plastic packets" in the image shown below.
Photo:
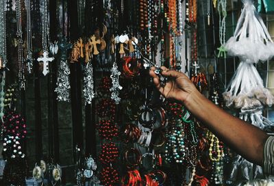
[[[219,37],[221,47],[218,48],[219,53],[218,57],[227,57],[226,49],[225,49],[225,18],[227,17],[227,0],[220,0],[218,1],[218,12],[219,12]],[[223,18],[222,18],[223,16]]]

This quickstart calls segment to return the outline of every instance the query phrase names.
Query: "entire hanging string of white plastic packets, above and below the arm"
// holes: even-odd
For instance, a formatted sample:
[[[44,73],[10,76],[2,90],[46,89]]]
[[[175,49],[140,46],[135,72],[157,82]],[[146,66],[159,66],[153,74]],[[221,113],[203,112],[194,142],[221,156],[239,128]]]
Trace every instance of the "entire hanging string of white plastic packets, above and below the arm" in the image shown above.
[[[251,0],[242,0],[244,7],[238,20],[234,36],[230,38],[225,49],[228,55],[238,56],[240,64],[223,93],[225,105],[238,109],[239,117],[260,129],[273,127],[273,123],[262,116],[264,106],[273,105],[274,96],[264,88],[264,83],[253,64],[271,59],[274,44],[271,36],[256,12]],[[238,155],[232,163],[229,176],[233,185],[245,185],[256,178],[266,178],[262,168]]]

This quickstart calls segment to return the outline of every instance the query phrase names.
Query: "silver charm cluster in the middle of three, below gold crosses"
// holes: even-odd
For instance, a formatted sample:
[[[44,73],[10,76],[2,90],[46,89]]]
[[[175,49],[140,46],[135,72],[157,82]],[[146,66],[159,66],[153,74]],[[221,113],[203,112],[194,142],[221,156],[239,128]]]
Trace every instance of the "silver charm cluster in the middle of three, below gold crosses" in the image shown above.
[[[95,98],[94,82],[93,82],[93,68],[92,63],[88,62],[84,67],[84,98],[85,104],[91,104],[92,99]]]

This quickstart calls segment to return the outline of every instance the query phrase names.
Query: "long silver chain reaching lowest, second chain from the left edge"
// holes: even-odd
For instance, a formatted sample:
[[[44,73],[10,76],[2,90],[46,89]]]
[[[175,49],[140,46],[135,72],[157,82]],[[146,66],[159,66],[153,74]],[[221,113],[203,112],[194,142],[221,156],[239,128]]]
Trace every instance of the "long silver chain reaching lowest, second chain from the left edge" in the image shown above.
[[[18,81],[21,89],[25,90],[25,72],[24,72],[24,55],[23,55],[23,31],[22,31],[22,16],[21,16],[21,2],[16,0],[16,25],[18,38]]]

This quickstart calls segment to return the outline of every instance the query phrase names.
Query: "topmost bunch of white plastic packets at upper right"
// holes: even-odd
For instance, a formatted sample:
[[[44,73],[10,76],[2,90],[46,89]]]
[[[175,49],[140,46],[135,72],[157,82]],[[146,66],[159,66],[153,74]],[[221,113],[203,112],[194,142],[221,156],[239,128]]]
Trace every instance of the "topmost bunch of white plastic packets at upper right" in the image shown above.
[[[244,7],[234,36],[225,43],[228,55],[238,56],[241,61],[258,63],[274,56],[274,44],[262,18],[256,12],[253,1],[244,0]]]

